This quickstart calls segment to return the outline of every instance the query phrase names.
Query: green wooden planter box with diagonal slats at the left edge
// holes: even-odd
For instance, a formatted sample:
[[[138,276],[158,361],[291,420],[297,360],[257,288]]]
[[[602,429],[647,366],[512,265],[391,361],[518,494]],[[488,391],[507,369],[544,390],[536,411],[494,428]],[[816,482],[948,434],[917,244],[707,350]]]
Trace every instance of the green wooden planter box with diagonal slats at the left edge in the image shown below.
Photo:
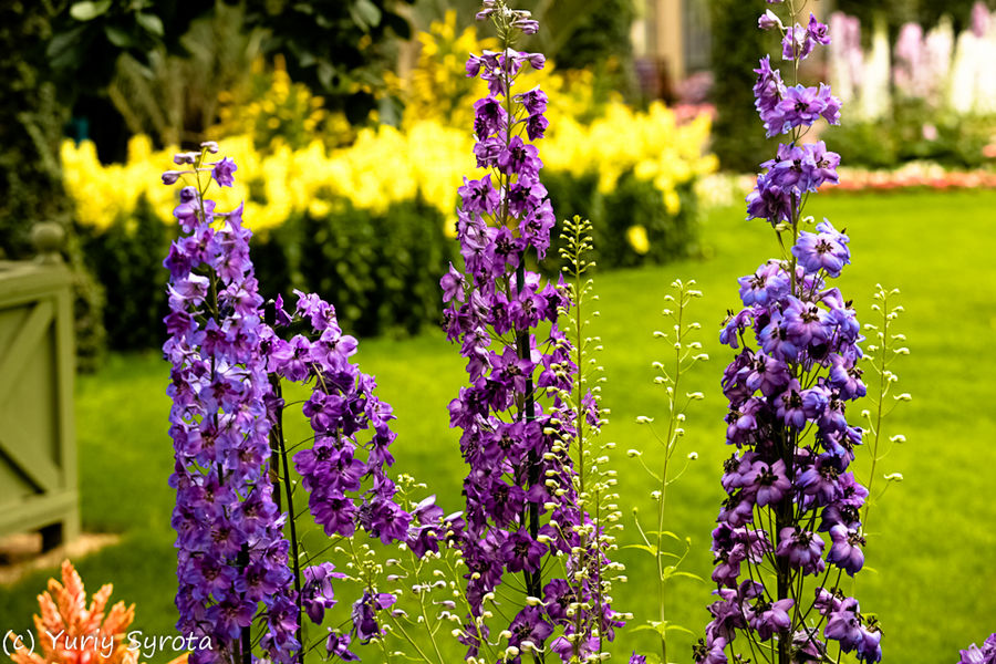
[[[49,253],[0,261],[0,537],[80,530],[70,271]]]

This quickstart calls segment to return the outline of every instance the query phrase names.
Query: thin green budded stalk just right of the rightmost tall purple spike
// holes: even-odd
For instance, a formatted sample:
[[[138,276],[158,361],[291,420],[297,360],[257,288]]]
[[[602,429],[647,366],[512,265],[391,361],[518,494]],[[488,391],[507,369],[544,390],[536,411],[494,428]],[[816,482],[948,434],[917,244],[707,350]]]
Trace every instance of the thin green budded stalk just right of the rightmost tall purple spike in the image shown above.
[[[899,376],[892,371],[891,366],[899,356],[910,354],[910,349],[903,345],[906,341],[905,334],[895,332],[895,321],[899,319],[900,313],[903,312],[902,305],[894,304],[899,294],[899,289],[894,288],[886,291],[881,284],[875,284],[875,302],[872,303],[871,309],[879,314],[881,323],[878,325],[867,323],[864,325],[874,343],[869,343],[865,346],[863,360],[865,366],[870,367],[876,376],[875,384],[869,385],[868,391],[872,408],[861,413],[862,417],[868,422],[867,436],[869,444],[867,449],[871,458],[867,484],[869,499],[864,504],[864,515],[861,518],[862,530],[865,537],[869,533],[868,518],[872,505],[882,498],[892,484],[903,480],[903,476],[899,473],[885,474],[882,476],[885,480],[885,486],[879,491],[878,496],[872,491],[879,461],[888,457],[895,445],[906,442],[906,437],[902,434],[892,434],[886,438],[884,419],[892,414],[901,402],[909,402],[913,398],[906,392],[893,394],[896,392],[895,384],[899,382]],[[878,388],[873,390],[873,387]]]

